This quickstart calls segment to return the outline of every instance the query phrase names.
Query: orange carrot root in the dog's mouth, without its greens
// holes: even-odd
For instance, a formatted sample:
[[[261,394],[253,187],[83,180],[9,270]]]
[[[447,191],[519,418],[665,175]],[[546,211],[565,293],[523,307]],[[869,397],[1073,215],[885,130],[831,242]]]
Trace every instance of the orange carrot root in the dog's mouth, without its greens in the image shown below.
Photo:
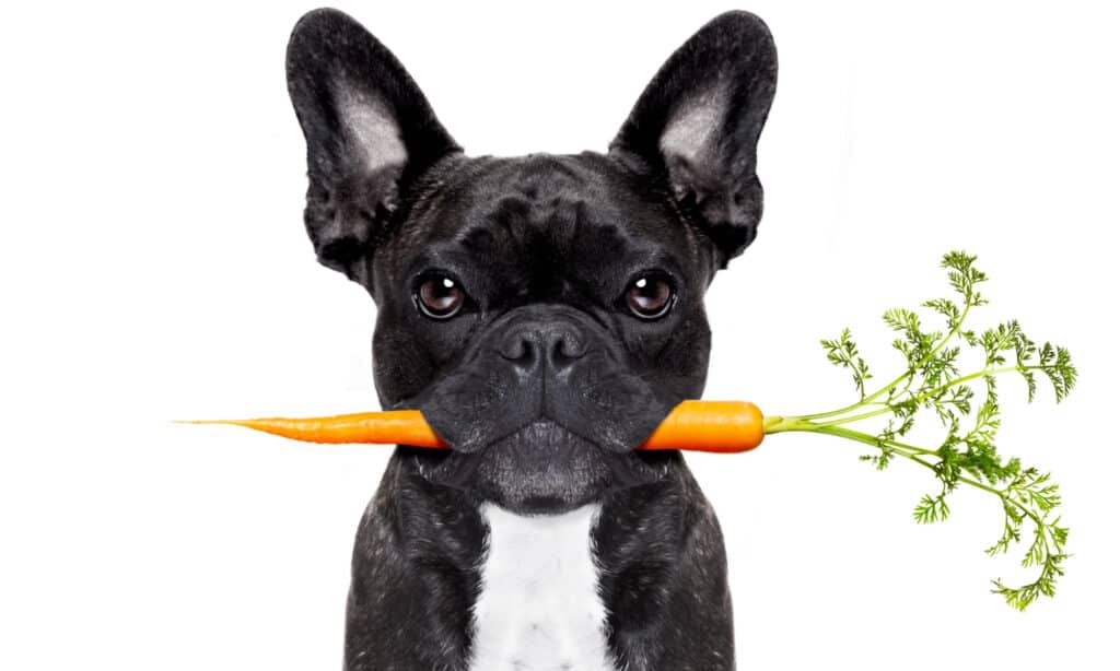
[[[420,410],[353,413],[333,417],[212,419],[188,424],[233,424],[310,443],[385,443],[447,447]],[[741,400],[685,400],[638,450],[746,452],[763,440],[763,414]]]

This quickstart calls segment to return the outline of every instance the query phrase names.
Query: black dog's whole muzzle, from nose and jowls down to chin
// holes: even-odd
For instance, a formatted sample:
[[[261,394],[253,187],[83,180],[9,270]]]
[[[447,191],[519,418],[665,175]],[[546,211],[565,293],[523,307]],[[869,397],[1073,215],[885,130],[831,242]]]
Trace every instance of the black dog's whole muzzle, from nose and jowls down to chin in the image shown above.
[[[671,452],[635,447],[688,394],[633,369],[615,334],[564,305],[526,305],[475,336],[417,395],[448,445],[417,456],[431,483],[524,513],[560,512],[661,480]]]

